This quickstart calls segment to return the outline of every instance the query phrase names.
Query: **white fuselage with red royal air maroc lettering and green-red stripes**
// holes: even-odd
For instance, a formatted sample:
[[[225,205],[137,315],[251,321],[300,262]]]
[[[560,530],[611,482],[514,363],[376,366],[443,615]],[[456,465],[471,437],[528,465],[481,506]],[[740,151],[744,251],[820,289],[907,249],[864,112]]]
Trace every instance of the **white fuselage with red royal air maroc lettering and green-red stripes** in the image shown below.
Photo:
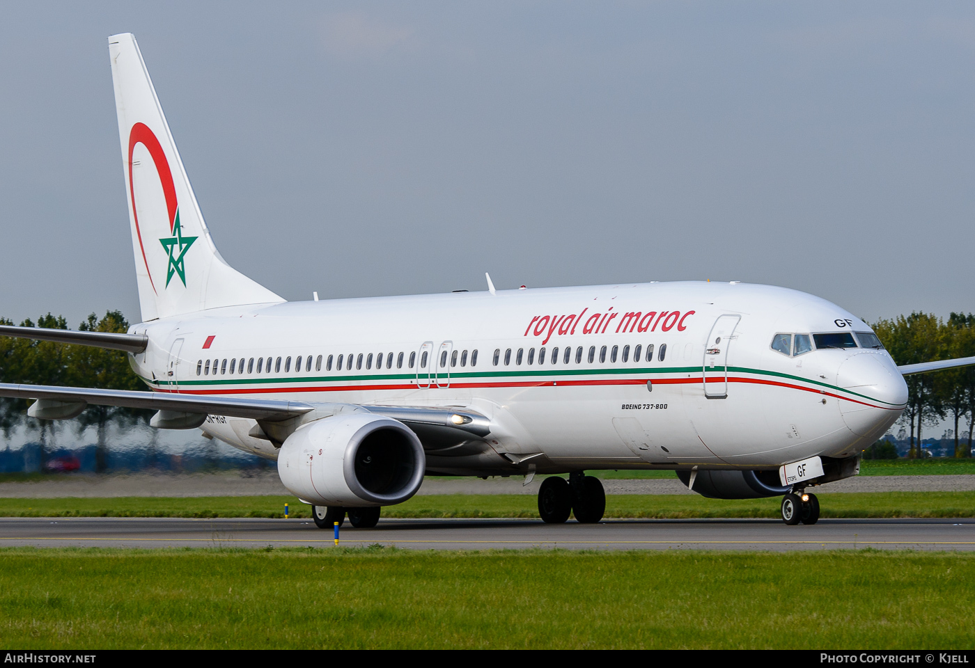
[[[767,285],[654,282],[227,307],[131,331],[149,337],[133,364],[154,390],[485,415],[484,442],[424,444],[431,472],[504,474],[532,456],[542,472],[767,469],[851,457],[907,402],[883,350],[773,350],[776,333],[871,329],[823,299]],[[203,429],[275,459],[270,442],[249,435],[254,424],[212,417]]]

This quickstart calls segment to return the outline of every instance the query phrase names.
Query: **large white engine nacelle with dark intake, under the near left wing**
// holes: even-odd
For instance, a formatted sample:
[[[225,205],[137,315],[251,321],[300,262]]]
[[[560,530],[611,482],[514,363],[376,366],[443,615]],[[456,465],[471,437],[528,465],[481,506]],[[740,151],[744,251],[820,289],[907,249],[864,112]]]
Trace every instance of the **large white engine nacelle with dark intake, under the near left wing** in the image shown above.
[[[315,505],[402,503],[420,488],[425,467],[423,446],[409,427],[369,413],[300,427],[278,454],[281,482]]]

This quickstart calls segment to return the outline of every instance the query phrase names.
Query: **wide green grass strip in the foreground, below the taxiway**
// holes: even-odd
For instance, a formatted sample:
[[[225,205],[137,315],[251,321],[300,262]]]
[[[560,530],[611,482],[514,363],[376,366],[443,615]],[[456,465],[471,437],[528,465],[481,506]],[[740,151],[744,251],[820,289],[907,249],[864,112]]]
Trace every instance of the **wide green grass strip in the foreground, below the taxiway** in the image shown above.
[[[975,555],[0,550],[5,649],[970,649]]]

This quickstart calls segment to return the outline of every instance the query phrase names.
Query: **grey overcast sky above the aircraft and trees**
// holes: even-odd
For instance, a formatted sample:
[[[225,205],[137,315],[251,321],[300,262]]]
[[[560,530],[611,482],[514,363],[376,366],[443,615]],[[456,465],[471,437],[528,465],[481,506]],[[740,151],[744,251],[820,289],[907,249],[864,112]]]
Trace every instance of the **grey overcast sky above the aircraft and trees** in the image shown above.
[[[21,2],[0,315],[137,319],[106,37],[288,299],[684,278],[975,311],[970,2]]]

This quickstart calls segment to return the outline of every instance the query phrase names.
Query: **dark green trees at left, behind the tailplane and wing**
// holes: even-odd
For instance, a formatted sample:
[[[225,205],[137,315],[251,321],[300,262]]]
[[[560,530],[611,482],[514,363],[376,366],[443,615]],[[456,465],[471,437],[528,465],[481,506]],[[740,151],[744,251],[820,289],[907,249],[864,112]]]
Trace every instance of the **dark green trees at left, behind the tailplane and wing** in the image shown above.
[[[14,322],[0,318],[0,324]],[[39,317],[36,323],[26,319],[20,322],[20,326],[67,329],[67,321],[62,316],[48,314]],[[121,312],[109,311],[100,319],[95,314],[89,315],[78,329],[125,332],[129,329],[129,322]],[[0,383],[145,390],[145,385],[129,366],[126,353],[3,336],[0,336]],[[14,428],[26,422],[28,427],[38,432],[43,449],[51,436],[51,430],[56,426],[47,420],[27,418],[26,409],[27,402],[23,399],[0,399],[0,429],[9,437]],[[151,412],[91,405],[77,418],[75,426],[79,429],[98,427],[96,465],[100,469],[104,468],[107,456],[106,431],[109,424],[113,421],[133,424],[150,415]]]

